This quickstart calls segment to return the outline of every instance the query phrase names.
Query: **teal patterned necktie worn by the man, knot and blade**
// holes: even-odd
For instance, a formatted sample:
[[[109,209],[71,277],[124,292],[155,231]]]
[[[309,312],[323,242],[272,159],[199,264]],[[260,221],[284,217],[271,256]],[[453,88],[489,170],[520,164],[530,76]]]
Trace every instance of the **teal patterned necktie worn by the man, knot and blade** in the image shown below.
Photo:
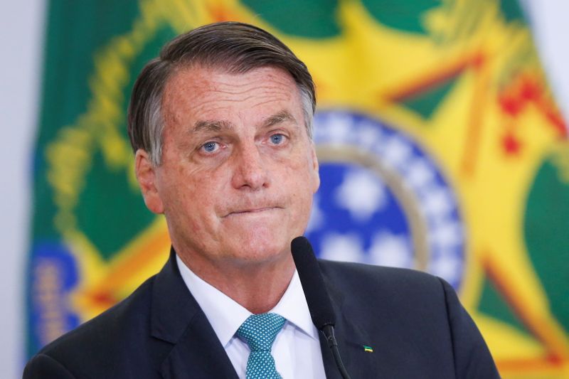
[[[251,351],[245,374],[247,379],[281,378],[271,348],[285,321],[284,317],[274,313],[252,314],[235,333],[247,342]]]

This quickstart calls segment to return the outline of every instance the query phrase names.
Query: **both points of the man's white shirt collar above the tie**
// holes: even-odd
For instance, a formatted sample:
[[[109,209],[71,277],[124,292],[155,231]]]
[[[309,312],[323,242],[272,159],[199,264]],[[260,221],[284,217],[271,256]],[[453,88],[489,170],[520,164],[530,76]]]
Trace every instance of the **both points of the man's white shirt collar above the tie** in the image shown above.
[[[198,302],[203,313],[206,314],[221,344],[224,347],[227,346],[239,326],[245,322],[251,312],[194,274],[178,255],[176,255],[176,262],[186,287]],[[280,314],[287,319],[287,322],[296,326],[307,336],[318,340],[318,331],[312,324],[308,304],[296,270],[294,270],[285,294],[270,312]]]

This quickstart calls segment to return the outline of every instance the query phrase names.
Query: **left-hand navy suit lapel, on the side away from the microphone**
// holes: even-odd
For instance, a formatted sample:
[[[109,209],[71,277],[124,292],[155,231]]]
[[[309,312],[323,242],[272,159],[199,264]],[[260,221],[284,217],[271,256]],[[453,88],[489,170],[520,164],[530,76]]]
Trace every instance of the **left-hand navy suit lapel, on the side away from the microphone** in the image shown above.
[[[238,378],[206,315],[181,278],[174,250],[154,282],[151,335],[174,345],[161,365],[164,378]]]

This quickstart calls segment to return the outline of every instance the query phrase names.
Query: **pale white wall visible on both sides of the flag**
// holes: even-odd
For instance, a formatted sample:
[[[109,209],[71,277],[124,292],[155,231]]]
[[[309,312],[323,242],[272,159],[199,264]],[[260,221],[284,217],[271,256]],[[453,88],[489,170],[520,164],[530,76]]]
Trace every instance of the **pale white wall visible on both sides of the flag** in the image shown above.
[[[566,0],[524,0],[543,65],[569,119]],[[44,0],[0,6],[0,378],[20,378],[24,360],[24,265],[31,208],[31,154],[43,67]]]

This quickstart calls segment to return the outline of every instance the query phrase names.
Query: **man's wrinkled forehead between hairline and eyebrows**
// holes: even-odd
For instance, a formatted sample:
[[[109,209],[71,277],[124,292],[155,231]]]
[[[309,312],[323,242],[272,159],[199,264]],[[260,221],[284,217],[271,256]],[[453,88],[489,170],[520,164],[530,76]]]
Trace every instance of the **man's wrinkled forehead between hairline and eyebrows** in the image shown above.
[[[180,68],[166,83],[162,109],[166,122],[245,112],[267,116],[283,109],[292,114],[302,112],[296,82],[285,70],[273,67],[236,74],[220,68]]]

